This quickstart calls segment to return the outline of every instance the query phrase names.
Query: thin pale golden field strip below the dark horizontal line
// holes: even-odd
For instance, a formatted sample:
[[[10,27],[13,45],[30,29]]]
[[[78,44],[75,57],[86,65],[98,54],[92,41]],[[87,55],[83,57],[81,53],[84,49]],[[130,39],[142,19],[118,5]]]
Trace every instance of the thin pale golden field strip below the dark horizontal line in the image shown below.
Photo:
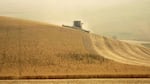
[[[0,80],[1,84],[149,84],[149,78]]]

